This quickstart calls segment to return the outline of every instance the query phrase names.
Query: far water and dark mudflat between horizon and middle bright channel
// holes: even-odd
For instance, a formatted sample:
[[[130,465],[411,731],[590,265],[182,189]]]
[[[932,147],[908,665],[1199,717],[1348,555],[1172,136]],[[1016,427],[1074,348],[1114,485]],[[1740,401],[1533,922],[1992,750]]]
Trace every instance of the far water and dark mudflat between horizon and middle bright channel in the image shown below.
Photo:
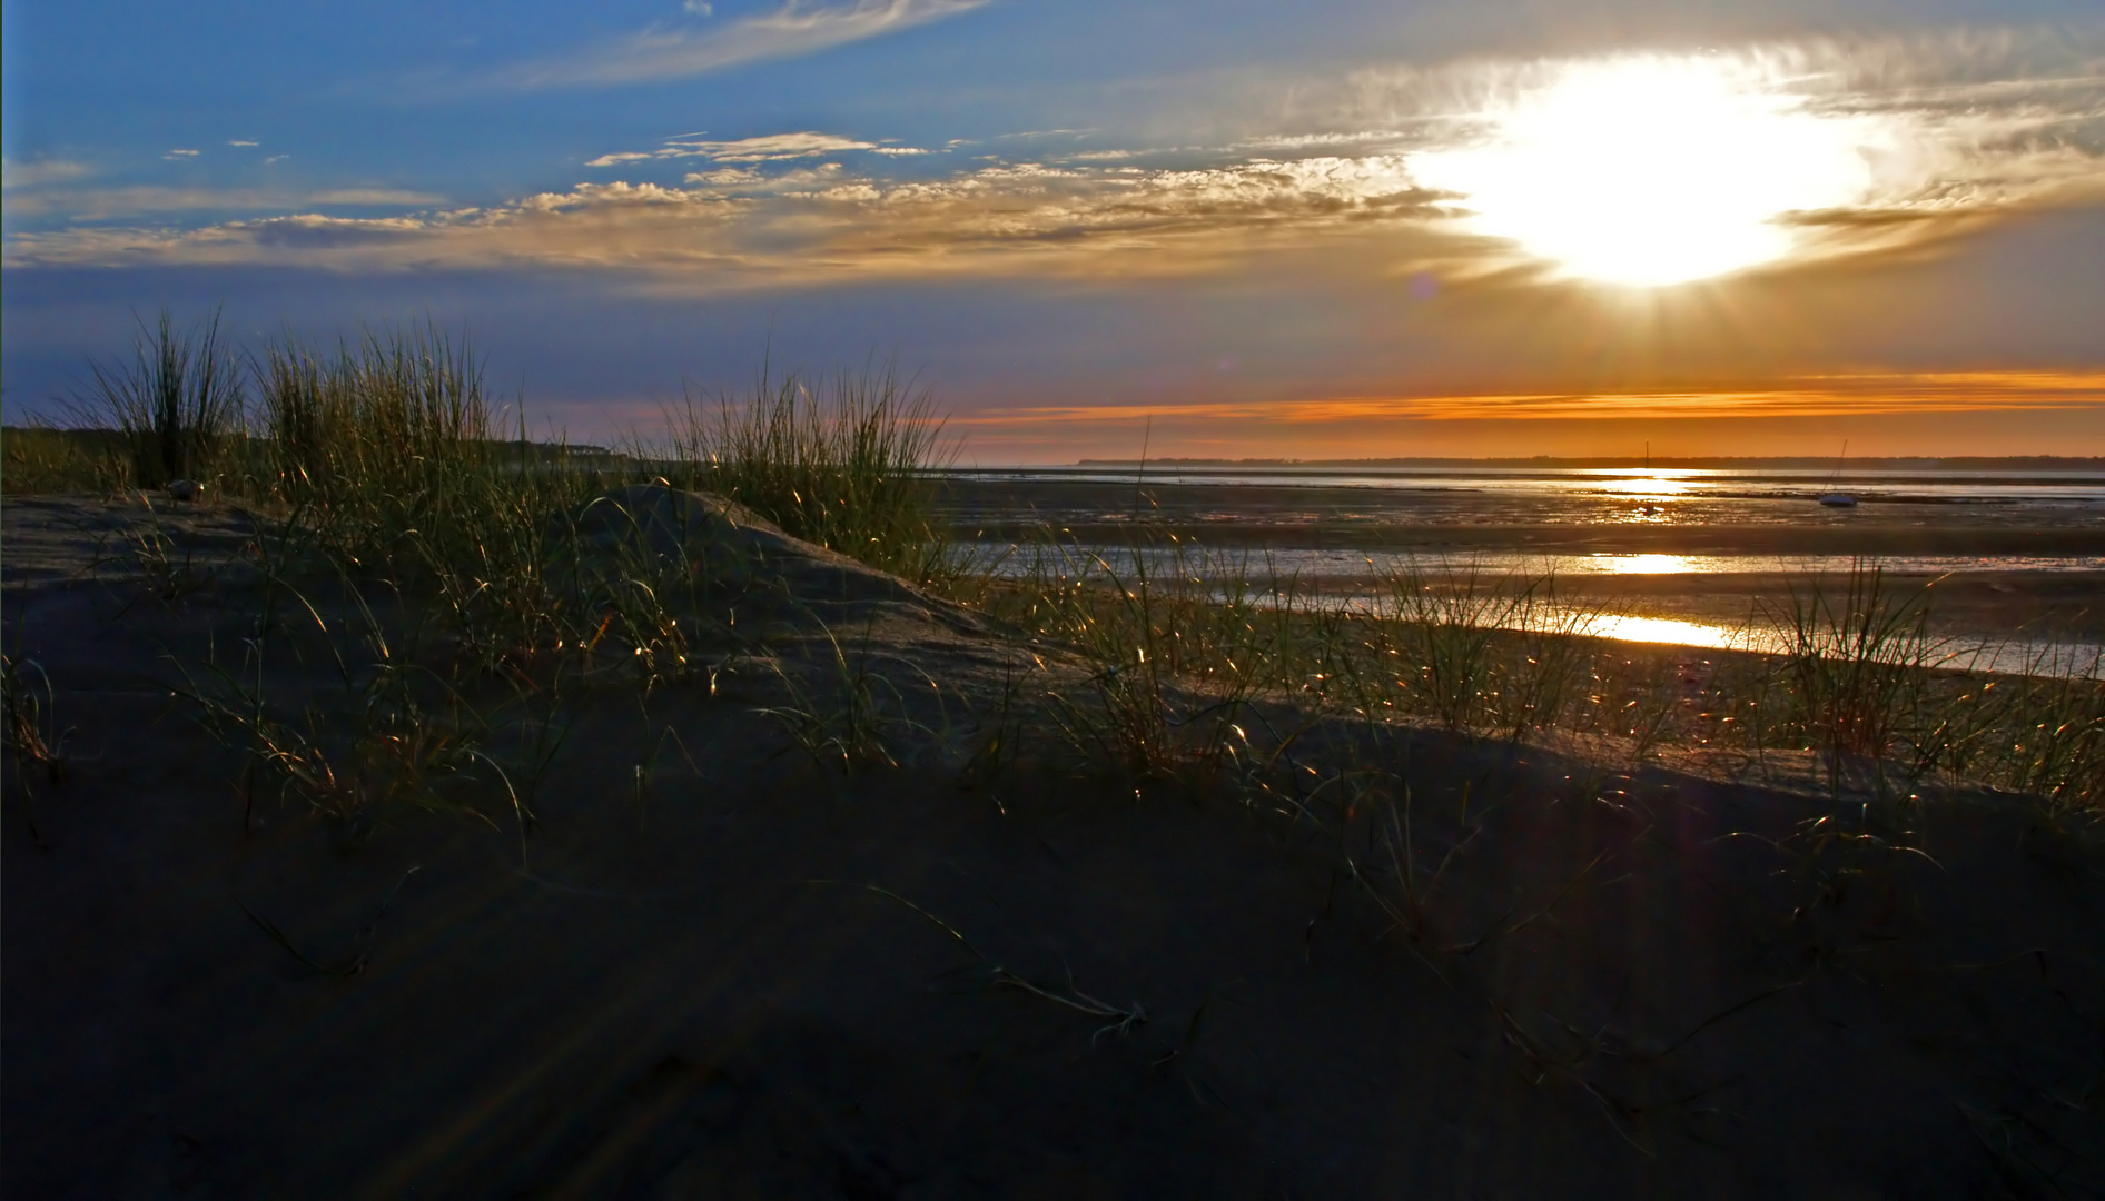
[[[1836,490],[1859,505],[1817,503]],[[1377,545],[1381,536],[1465,538],[1490,549],[1505,530],[1505,543],[1532,532],[1604,553],[1855,553],[1842,543],[1884,541],[1907,543],[1899,553],[1941,549],[1947,557],[2105,557],[2105,471],[1021,469],[951,473],[945,503],[960,522],[1156,522],[1265,534],[1274,545],[1295,545],[1292,534],[1305,545],[1358,534]],[[1779,541],[1804,530],[1838,549]],[[1939,538],[1947,545],[1932,547]],[[1951,538],[1966,545],[1956,551]],[[1983,545],[1998,538],[2002,547]]]

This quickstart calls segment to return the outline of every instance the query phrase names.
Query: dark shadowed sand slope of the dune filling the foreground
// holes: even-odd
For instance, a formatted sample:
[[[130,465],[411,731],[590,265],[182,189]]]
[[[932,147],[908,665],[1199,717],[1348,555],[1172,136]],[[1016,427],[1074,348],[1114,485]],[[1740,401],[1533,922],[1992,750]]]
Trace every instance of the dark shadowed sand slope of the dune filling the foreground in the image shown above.
[[[72,728],[6,764],[8,1197],[2105,1193],[2105,848],[2023,797],[1343,726],[1135,793],[1050,734],[1071,656],[777,545],[714,696],[568,694],[524,848],[488,789],[324,820],[171,698],[240,665],[244,517],[164,522],[236,564],[173,599],[97,505],[4,517]],[[836,679],[815,614],[899,768],[756,713]],[[964,770],[1006,679],[1038,749]]]

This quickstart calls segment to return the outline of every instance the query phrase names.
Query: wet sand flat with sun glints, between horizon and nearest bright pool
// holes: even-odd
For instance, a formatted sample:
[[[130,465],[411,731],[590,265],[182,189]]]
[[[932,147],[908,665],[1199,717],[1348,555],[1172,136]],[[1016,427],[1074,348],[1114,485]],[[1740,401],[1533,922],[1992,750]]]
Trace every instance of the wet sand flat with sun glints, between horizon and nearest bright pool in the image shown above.
[[[1977,498],[1882,488],[1888,494],[1867,492],[1855,509],[1825,509],[1804,486],[1673,496],[1526,482],[1396,488],[989,473],[947,480],[945,513],[985,551],[1048,536],[1097,549],[1175,538],[1324,593],[1379,587],[1404,564],[1553,574],[1575,604],[1709,625],[1783,612],[1812,587],[1833,593],[1861,562],[1890,587],[1932,587],[1943,633],[2105,637],[2105,505],[1993,488]]]

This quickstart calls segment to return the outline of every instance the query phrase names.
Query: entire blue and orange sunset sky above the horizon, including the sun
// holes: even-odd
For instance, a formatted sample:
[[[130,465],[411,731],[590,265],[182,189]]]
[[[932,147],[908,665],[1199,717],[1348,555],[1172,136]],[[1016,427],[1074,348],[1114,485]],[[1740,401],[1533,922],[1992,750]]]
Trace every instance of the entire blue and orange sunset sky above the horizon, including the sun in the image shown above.
[[[2105,454],[2099,0],[19,0],[0,408],[160,309],[539,433],[895,364],[964,463]]]

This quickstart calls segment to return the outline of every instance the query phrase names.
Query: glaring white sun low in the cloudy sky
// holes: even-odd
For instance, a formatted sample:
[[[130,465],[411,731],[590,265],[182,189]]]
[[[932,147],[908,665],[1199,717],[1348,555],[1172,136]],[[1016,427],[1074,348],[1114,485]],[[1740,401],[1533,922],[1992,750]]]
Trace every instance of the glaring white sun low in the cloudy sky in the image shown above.
[[[1787,257],[1791,212],[1871,189],[1867,130],[1749,63],[1642,55],[1570,63],[1484,111],[1480,135],[1417,156],[1469,225],[1570,276],[1663,286]]]

